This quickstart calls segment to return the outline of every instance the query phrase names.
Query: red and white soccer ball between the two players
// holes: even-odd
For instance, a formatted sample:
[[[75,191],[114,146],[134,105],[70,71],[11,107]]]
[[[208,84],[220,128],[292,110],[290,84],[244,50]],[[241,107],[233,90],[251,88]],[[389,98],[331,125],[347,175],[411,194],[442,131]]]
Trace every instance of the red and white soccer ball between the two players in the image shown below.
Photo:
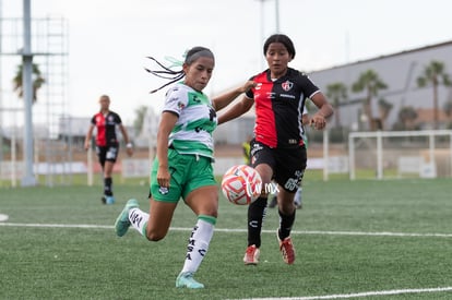
[[[259,197],[261,189],[261,176],[250,166],[234,166],[223,176],[222,191],[230,203],[237,205],[250,204]]]

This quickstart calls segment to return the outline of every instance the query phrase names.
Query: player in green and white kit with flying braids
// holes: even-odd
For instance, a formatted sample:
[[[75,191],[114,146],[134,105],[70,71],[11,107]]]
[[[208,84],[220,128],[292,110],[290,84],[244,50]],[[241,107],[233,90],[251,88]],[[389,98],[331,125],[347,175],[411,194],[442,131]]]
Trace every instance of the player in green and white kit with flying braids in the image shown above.
[[[211,100],[202,93],[214,70],[211,50],[204,47],[189,50],[180,72],[157,63],[163,71],[147,71],[166,79],[173,75],[171,82],[162,87],[183,81],[166,93],[157,132],[157,154],[151,171],[150,213],[141,211],[136,200],[129,200],[116,220],[116,233],[122,237],[132,226],[150,241],[162,240],[179,200],[183,199],[198,220],[189,237],[176,287],[203,288],[193,275],[207,252],[218,211],[218,189],[212,168],[216,111],[251,88],[253,82]]]

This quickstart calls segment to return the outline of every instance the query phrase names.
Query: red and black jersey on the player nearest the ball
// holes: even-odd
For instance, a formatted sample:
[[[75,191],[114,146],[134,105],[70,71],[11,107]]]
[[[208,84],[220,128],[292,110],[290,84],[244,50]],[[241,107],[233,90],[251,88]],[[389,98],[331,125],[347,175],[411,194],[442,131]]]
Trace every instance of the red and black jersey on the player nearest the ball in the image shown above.
[[[302,145],[305,100],[319,93],[319,87],[306,74],[292,68],[277,80],[270,77],[270,70],[251,80],[258,84],[246,95],[254,99],[255,140],[270,147]]]

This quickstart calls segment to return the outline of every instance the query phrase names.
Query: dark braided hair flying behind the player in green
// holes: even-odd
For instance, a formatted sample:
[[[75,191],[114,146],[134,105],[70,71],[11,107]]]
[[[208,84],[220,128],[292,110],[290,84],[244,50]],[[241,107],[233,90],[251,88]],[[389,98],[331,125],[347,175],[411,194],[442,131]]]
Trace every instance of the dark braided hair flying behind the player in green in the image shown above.
[[[195,60],[198,60],[200,57],[209,57],[212,59],[214,58],[214,55],[212,53],[212,51],[205,47],[201,47],[201,46],[197,46],[191,48],[190,50],[188,50],[185,55],[185,61],[183,63],[180,61],[177,61],[175,59],[171,59],[173,64],[170,67],[166,67],[163,63],[160,63],[158,60],[156,60],[153,57],[147,57],[148,59],[155,61],[155,63],[157,63],[157,65],[160,68],[160,70],[151,70],[147,68],[144,68],[147,72],[150,72],[151,74],[164,79],[164,80],[169,80],[169,82],[165,83],[164,85],[162,85],[158,88],[155,88],[153,91],[151,91],[150,93],[153,94],[155,92],[160,91],[162,88],[164,88],[165,86],[168,86],[177,81],[180,81],[181,79],[183,79],[186,76],[186,73],[183,72],[183,68],[179,71],[175,71],[171,70],[173,67],[182,67],[185,63],[190,65],[192,62],[194,62]],[[169,59],[167,59],[169,60]]]

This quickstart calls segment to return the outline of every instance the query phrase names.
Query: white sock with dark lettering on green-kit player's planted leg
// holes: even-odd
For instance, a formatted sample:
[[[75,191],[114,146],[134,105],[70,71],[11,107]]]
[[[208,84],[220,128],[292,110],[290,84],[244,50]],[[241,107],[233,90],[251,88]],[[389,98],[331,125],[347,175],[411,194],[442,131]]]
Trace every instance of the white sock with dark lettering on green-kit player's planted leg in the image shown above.
[[[183,263],[183,268],[181,273],[190,272],[195,273],[201,265],[202,260],[209,250],[209,244],[211,242],[215,218],[210,217],[207,221],[202,217],[198,219],[197,225],[191,231],[191,236],[188,243],[188,251],[186,255],[186,262]]]

